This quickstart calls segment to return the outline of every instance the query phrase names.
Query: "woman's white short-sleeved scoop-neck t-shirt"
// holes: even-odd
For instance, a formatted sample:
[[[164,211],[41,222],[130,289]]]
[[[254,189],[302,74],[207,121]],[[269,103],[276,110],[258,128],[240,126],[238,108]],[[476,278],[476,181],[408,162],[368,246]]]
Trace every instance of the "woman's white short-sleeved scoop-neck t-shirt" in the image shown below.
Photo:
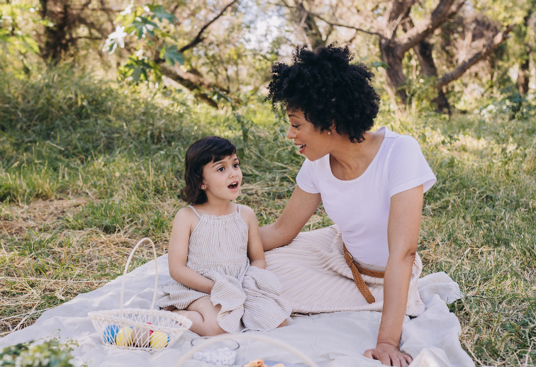
[[[385,132],[384,140],[357,179],[336,179],[328,154],[314,162],[306,159],[296,183],[303,191],[320,193],[325,212],[339,226],[342,240],[357,261],[386,266],[391,196],[420,185],[426,192],[436,179],[415,138],[385,127],[378,132]]]

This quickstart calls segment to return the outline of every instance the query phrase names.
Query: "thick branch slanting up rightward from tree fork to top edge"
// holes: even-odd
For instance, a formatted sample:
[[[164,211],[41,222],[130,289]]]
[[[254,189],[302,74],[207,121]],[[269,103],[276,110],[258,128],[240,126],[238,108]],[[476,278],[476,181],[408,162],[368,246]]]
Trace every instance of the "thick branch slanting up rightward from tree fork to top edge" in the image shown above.
[[[401,37],[393,40],[396,43],[396,55],[403,57],[404,53],[420,43],[432,33],[437,27],[441,26],[447,18],[457,13],[462,7],[465,0],[440,0],[437,7],[423,21],[420,21],[415,28],[411,28]]]

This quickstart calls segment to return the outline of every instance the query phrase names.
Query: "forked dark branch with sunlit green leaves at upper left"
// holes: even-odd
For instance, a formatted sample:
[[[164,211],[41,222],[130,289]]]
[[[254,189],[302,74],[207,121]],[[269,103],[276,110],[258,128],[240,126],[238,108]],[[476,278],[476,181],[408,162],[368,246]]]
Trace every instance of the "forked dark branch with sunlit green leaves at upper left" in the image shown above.
[[[184,65],[184,52],[203,43],[206,30],[237,2],[231,0],[220,6],[218,13],[201,25],[193,38],[186,40],[175,36],[175,25],[179,21],[163,6],[147,4],[135,7],[131,4],[118,14],[115,21],[118,26],[115,32],[108,35],[103,52],[113,54],[117,47],[130,50],[128,60],[118,69],[122,80],[133,83],[160,81],[164,75],[192,91],[201,101],[217,108],[214,91],[228,93],[228,90],[205,79],[198,71],[187,72],[177,64]]]

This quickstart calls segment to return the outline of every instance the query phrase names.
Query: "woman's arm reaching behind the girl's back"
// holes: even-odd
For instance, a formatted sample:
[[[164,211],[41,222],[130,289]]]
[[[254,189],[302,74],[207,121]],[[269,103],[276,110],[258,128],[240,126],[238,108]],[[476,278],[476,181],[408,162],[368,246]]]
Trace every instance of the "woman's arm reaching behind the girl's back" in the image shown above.
[[[291,243],[321,202],[320,193],[307,193],[296,185],[276,222],[259,228],[264,251]]]

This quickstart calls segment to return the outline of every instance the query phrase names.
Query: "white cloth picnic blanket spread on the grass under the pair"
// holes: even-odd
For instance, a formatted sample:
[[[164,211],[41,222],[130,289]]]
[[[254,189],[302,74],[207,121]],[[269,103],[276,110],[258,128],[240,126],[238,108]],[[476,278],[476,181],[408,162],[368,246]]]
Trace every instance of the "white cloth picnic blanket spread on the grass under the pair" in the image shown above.
[[[169,280],[167,255],[158,259],[158,282]],[[73,355],[79,362],[92,366],[176,366],[177,361],[191,349],[191,339],[198,337],[186,332],[171,348],[151,355],[143,351],[116,349],[102,344],[99,334],[87,317],[87,312],[111,310],[119,307],[122,277],[89,293],[77,295],[69,302],[48,310],[30,327],[8,334],[0,339],[4,346],[56,334],[61,339],[78,341]],[[125,307],[149,308],[155,286],[155,264],[150,261],[128,273],[125,283]],[[445,303],[460,297],[457,283],[446,273],[433,273],[419,280],[420,297],[427,310],[403,325],[401,349],[413,356],[412,367],[474,366],[459,343],[461,327],[457,317]],[[380,312],[333,312],[310,316],[296,316],[287,327],[258,332],[294,346],[312,358],[320,367],[380,366],[363,356],[374,348],[378,335]],[[257,333],[257,332],[255,332]],[[232,335],[230,335],[232,338]],[[261,341],[241,341],[237,363],[264,358],[270,361],[301,363],[289,351],[264,344]],[[240,366],[242,366],[240,364]],[[185,367],[212,366],[189,360]]]

